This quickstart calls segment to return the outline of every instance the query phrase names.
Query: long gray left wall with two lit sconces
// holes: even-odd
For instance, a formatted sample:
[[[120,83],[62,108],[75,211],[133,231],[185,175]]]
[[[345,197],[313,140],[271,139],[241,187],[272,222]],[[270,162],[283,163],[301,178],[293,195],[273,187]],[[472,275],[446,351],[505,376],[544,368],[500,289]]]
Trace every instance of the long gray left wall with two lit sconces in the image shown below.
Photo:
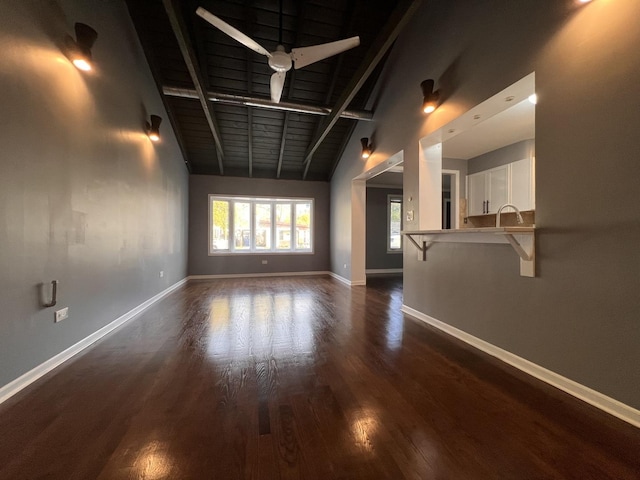
[[[90,74],[58,47],[76,21],[99,33]],[[188,181],[121,1],[0,2],[0,111],[2,386],[186,276]]]

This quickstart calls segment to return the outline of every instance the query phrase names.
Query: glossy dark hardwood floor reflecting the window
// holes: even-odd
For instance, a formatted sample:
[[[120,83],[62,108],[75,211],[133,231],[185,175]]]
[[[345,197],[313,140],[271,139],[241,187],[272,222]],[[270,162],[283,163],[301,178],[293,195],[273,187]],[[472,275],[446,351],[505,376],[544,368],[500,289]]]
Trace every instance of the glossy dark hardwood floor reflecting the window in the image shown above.
[[[0,405],[0,478],[640,478],[639,429],[368,282],[190,282]]]

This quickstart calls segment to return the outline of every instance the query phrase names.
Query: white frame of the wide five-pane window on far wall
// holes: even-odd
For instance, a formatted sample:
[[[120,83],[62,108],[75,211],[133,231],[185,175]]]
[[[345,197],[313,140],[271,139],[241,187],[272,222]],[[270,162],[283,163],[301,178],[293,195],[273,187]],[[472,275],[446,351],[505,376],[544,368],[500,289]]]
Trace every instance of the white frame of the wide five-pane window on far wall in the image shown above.
[[[229,202],[229,244],[227,249],[214,249],[213,248],[213,202],[214,201],[226,201]],[[249,248],[236,250],[234,244],[234,209],[235,203],[249,203],[250,204],[250,220],[249,220]],[[269,204],[271,205],[271,248],[257,248],[256,247],[256,205],[257,204]],[[296,246],[296,205],[305,204],[309,205],[309,243],[310,248],[298,248]],[[291,209],[291,227],[290,227],[290,247],[288,249],[277,248],[277,223],[276,223],[276,207],[277,205],[289,205]],[[297,197],[246,197],[235,195],[215,195],[209,194],[209,256],[218,255],[300,255],[300,254],[313,254],[314,253],[314,232],[315,232],[315,215],[314,215],[314,200],[313,198],[297,198]]]

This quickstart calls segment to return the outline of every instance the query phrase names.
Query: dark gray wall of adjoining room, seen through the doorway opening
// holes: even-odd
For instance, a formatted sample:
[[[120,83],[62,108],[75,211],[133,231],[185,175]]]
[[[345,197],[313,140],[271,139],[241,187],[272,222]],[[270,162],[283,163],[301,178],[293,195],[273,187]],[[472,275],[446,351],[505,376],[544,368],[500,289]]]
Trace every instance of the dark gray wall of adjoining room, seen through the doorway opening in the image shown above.
[[[398,188],[367,187],[367,270],[402,268],[402,253],[387,253],[387,196]]]

